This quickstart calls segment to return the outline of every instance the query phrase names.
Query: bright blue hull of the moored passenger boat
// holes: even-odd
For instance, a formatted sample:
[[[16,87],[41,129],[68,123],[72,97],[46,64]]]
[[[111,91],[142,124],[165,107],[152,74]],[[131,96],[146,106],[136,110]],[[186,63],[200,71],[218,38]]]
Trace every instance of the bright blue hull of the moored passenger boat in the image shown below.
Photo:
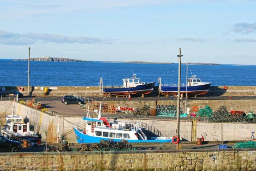
[[[74,128],[75,134],[76,134],[76,140],[78,143],[99,143],[100,140],[109,140],[112,139],[114,141],[121,141],[122,139],[127,140],[130,143],[134,142],[172,142],[171,137],[169,139],[153,139],[153,140],[131,140],[126,138],[104,138],[104,137],[96,137],[96,136],[90,136],[87,134],[84,134],[80,132],[78,129]]]

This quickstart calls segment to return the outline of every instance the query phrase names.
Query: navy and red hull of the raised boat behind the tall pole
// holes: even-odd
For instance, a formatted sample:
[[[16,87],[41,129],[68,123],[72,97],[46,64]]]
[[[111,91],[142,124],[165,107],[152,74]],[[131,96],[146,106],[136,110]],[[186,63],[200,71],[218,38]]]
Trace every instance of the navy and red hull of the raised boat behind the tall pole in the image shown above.
[[[190,95],[202,95],[206,94],[209,91],[209,88],[211,86],[211,83],[203,84],[199,86],[187,86],[187,94]],[[177,86],[161,86],[161,93],[162,94],[177,94],[178,93],[178,87]],[[185,94],[186,93],[186,86],[180,87],[180,93]]]

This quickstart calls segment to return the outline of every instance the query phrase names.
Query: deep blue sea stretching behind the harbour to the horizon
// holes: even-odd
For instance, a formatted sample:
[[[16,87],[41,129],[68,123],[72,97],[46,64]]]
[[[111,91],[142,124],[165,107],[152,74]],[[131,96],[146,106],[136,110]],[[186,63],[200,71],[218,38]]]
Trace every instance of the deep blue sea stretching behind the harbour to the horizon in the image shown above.
[[[27,86],[27,61],[0,60],[0,86]],[[122,85],[132,71],[140,81],[178,83],[178,64],[126,64],[111,62],[30,61],[30,86]],[[196,75],[211,86],[256,86],[256,65],[189,65],[188,77]],[[186,65],[181,65],[181,83],[186,83]]]

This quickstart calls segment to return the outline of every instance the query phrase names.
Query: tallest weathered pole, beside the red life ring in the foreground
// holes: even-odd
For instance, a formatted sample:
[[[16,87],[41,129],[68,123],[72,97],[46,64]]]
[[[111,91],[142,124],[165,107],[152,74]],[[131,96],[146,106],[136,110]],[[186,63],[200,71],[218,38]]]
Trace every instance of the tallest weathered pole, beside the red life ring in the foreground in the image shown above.
[[[178,71],[178,96],[177,96],[177,137],[180,139],[180,68],[181,68],[181,48],[179,48],[179,54],[177,57],[179,58],[179,71]],[[176,149],[179,148],[179,143],[176,145]]]

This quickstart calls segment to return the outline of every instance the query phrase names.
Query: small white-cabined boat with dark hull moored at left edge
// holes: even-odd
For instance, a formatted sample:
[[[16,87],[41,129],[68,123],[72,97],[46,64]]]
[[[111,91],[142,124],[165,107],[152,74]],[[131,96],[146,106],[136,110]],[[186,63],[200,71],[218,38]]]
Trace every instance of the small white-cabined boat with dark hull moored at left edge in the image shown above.
[[[41,143],[38,134],[30,130],[29,122],[23,123],[23,117],[15,115],[15,109],[12,107],[12,114],[6,116],[6,125],[1,133],[11,140],[22,142],[27,140],[30,143]]]

